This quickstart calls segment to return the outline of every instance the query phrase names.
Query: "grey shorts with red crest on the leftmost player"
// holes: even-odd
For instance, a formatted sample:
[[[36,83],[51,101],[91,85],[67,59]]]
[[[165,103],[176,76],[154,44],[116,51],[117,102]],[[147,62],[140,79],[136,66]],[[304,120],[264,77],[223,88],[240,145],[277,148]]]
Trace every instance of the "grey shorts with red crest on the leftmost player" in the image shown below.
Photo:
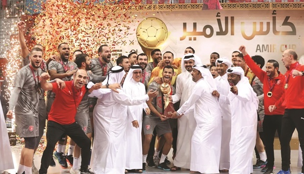
[[[16,116],[16,134],[19,137],[38,137],[39,136],[39,118],[38,115],[15,114]]]

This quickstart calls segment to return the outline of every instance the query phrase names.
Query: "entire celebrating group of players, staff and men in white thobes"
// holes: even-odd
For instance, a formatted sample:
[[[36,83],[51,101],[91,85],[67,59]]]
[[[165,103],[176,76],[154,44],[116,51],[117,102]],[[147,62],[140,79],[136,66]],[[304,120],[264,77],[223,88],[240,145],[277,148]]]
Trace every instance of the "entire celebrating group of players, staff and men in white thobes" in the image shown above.
[[[24,67],[6,114],[12,119],[14,111],[16,133],[25,139],[17,174],[47,174],[55,161],[64,169],[71,165],[71,174],[143,173],[147,167],[191,174],[251,174],[260,168],[274,174],[276,131],[278,174],[290,174],[295,128],[304,151],[304,66],[294,50],[282,53],[285,75],[278,61],[265,64],[243,45],[231,59],[212,52],[208,65],[192,47],[182,58],[152,50],[150,63],[145,53],[130,52],[113,66],[110,48],[101,45],[97,58],[75,50],[71,60],[67,43],[44,60],[41,45],[26,47],[24,26],[18,23]],[[38,171],[33,156],[46,120]]]

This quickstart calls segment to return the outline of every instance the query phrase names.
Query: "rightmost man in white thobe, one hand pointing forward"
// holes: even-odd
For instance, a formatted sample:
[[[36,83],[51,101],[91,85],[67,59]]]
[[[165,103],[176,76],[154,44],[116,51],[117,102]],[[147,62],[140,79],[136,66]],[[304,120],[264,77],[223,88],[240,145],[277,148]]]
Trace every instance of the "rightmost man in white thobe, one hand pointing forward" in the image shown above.
[[[241,67],[227,70],[231,86],[228,96],[213,91],[219,103],[230,104],[231,138],[229,174],[253,173],[252,155],[255,146],[258,99]]]

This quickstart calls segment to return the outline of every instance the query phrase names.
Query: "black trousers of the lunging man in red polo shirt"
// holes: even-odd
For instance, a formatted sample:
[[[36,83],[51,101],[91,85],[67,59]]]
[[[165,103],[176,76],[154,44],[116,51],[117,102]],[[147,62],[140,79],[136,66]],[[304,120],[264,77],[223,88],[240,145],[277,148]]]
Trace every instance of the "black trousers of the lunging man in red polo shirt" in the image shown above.
[[[58,124],[53,121],[48,122],[48,131],[47,131],[47,147],[43,151],[41,158],[41,167],[39,174],[47,174],[48,168],[51,162],[51,157],[53,150],[57,141],[63,134],[67,134],[71,137],[75,143],[81,148],[81,170],[88,168],[90,160],[90,149],[91,149],[91,140],[86,136],[86,134],[81,129],[81,126],[76,122],[69,125]]]

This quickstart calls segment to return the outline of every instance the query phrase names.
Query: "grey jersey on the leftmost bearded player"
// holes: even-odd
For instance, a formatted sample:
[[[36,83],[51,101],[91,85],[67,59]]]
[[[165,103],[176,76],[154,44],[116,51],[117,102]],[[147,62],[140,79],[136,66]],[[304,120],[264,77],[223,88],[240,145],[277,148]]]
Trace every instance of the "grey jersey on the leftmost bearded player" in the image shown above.
[[[16,114],[38,115],[39,93],[37,90],[40,88],[40,75],[42,73],[40,68],[34,71],[37,85],[29,65],[23,67],[15,76],[13,87],[21,88],[15,106]]]

